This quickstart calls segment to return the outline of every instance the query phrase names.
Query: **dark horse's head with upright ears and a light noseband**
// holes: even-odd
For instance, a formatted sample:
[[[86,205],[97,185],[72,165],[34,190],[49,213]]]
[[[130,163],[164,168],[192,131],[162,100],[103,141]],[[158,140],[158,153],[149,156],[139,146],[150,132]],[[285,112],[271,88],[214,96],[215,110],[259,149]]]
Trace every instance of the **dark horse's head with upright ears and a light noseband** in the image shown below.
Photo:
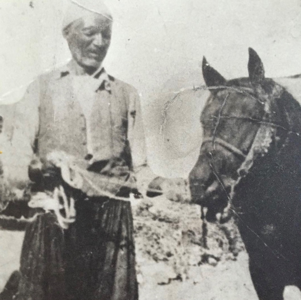
[[[201,114],[203,143],[189,175],[192,202],[208,208],[206,218],[227,218],[233,188],[256,155],[264,155],[275,136],[269,124],[283,124],[278,100],[285,91],[265,78],[257,53],[249,48],[249,77],[227,81],[203,58],[210,96]],[[277,126],[276,126],[277,127]],[[231,193],[232,191],[232,193]]]

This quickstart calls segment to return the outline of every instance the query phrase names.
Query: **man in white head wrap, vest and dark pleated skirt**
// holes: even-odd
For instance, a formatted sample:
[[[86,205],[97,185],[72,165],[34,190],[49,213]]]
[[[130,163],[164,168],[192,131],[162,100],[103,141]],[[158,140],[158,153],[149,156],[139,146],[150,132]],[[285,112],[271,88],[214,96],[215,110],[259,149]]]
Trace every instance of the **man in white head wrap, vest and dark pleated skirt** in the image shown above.
[[[138,194],[135,180],[129,178],[131,171],[146,166],[145,141],[137,92],[102,66],[112,20],[100,0],[71,2],[63,35],[72,60],[29,86],[17,104],[18,120],[12,130],[22,130],[40,161],[47,164],[53,151],[65,153],[90,174],[107,176],[108,182],[116,177],[124,180],[124,187],[116,193],[108,189],[108,196],[89,196],[80,189],[69,192],[75,207],[68,215],[76,212],[70,226],[60,226],[66,225],[66,212],[62,223],[57,222],[59,210],[55,215],[50,208],[36,217],[26,229],[14,299],[138,298],[133,220],[126,197],[129,192]],[[39,171],[30,166],[32,181],[39,181]],[[40,188],[35,191],[35,203],[50,197]],[[66,197],[60,192],[60,198]],[[113,194],[115,198],[109,197]]]

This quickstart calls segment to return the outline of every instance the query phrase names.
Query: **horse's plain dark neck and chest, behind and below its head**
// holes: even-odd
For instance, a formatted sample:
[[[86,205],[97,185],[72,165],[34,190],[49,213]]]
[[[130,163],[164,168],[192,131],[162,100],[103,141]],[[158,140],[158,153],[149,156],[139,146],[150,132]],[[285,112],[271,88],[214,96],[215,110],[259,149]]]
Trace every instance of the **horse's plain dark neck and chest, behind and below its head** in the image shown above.
[[[285,93],[283,112],[301,116],[298,103]],[[233,206],[240,234],[250,256],[251,277],[261,299],[282,299],[285,285],[301,288],[301,138],[300,120],[272,141],[235,187]],[[297,126],[296,126],[297,125]],[[296,126],[296,127],[295,127]],[[299,127],[299,128],[298,128]]]

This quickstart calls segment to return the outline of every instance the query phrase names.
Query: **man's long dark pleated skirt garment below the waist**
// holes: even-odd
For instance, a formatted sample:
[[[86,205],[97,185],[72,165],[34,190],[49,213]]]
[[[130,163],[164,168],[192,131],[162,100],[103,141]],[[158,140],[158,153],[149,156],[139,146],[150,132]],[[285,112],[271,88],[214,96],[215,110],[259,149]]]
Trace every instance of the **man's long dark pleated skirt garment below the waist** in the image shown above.
[[[137,300],[130,202],[76,201],[63,230],[44,213],[25,232],[17,300]]]

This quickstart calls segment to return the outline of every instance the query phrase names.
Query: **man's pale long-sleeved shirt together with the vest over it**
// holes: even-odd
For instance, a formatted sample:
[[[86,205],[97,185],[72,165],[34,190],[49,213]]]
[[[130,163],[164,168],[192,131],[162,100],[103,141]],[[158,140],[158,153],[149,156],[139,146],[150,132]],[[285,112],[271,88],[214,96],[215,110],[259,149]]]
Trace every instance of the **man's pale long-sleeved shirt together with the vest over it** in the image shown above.
[[[33,155],[52,150],[93,161],[120,158],[136,173],[151,173],[138,93],[104,69],[96,77],[77,76],[69,63],[39,76],[18,103],[0,106],[0,159],[12,181],[28,181]]]

